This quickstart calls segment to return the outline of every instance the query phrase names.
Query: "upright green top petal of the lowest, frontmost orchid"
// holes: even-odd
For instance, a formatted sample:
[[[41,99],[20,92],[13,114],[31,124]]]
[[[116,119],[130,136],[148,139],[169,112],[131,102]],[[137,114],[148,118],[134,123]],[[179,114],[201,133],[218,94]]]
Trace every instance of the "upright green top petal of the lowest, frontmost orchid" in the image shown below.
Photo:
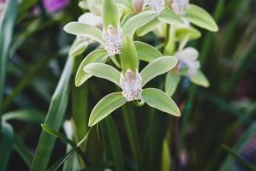
[[[120,57],[122,63],[122,72],[126,73],[128,69],[131,69],[134,73],[136,73],[136,70],[139,68],[139,57],[137,55],[134,41],[128,35],[123,38]]]

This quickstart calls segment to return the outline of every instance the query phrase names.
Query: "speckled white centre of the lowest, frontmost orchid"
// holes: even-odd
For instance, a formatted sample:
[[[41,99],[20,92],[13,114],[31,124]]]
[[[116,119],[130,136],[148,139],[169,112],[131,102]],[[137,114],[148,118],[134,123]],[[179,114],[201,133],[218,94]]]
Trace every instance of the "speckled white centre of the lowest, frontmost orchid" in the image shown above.
[[[141,99],[141,82],[142,78],[138,71],[134,74],[131,69],[128,69],[124,75],[121,73],[120,85],[122,87],[122,96],[128,102]]]

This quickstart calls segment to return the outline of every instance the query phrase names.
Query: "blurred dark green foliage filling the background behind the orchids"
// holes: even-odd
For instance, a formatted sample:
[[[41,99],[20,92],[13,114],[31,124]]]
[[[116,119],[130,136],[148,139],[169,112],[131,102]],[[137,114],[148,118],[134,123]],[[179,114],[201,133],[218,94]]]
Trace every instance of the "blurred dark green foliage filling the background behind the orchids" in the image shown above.
[[[14,138],[8,143],[14,147],[8,170],[28,170],[32,162],[35,164],[33,155],[42,131],[40,123],[45,121],[47,111],[59,114],[52,120],[57,122],[51,125],[56,124],[63,134],[63,121],[71,116],[76,118],[73,122],[79,121],[74,125],[80,130],[74,138],[78,142],[87,132],[86,120],[93,106],[110,90],[115,91],[107,81],[94,79],[74,87],[76,69],[95,44],[83,55],[69,60],[63,73],[68,48],[74,40],[63,32],[63,26],[83,13],[78,3],[69,1],[64,9],[55,12],[47,11],[44,3],[37,0],[22,0],[18,4],[1,103],[2,120],[14,131]],[[135,109],[128,104],[117,110],[98,130],[92,129],[86,153],[93,164],[117,158],[127,170],[135,170],[134,163],[140,163],[139,170],[255,170],[256,1],[192,0],[192,3],[209,11],[220,27],[217,33],[201,30],[202,38],[191,43],[199,50],[210,88],[200,88],[183,79],[174,96],[182,111],[180,118],[156,115],[158,111],[146,106]],[[152,34],[145,41],[153,45],[159,42]],[[3,46],[3,42],[0,44]],[[70,61],[74,62],[73,68],[68,66]],[[2,69],[3,66],[3,81]],[[73,70],[69,72],[70,80],[68,70]],[[62,73],[63,86],[57,93]],[[152,84],[157,85],[160,80],[164,78]],[[56,96],[52,97],[54,92]],[[55,103],[59,103],[57,109]],[[104,132],[104,128],[108,131]],[[2,129],[2,145],[6,129]],[[104,150],[100,141],[95,140],[97,132],[105,141]],[[57,139],[48,166],[65,154],[66,146]],[[2,163],[3,159],[8,161],[8,155],[1,155],[0,159]],[[67,167],[66,163],[63,169],[68,170]]]

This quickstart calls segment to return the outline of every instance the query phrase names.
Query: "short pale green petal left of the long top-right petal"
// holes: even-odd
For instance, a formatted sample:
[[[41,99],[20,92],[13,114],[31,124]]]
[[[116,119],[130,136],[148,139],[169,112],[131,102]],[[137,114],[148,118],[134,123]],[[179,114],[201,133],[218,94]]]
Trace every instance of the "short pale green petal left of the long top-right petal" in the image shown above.
[[[161,13],[158,15],[158,20],[170,25],[183,24],[181,17],[176,15],[176,13],[169,8],[165,8],[161,11]]]

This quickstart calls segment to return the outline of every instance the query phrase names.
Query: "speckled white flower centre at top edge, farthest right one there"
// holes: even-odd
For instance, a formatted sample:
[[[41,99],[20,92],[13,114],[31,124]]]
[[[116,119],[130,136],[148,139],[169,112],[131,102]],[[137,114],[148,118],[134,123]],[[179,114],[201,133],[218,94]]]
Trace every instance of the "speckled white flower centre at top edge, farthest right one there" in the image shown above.
[[[185,15],[189,6],[189,0],[173,0],[171,8],[177,15]]]

